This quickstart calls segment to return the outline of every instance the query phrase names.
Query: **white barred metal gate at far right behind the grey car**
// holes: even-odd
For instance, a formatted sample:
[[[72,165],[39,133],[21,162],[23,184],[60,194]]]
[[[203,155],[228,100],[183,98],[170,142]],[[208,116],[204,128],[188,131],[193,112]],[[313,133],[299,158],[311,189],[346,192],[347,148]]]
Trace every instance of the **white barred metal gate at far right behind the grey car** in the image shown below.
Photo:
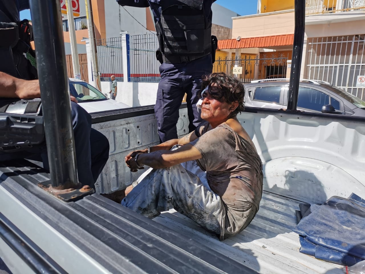
[[[356,87],[357,76],[365,75],[365,34],[307,39],[307,75],[330,82],[360,99],[364,88]]]

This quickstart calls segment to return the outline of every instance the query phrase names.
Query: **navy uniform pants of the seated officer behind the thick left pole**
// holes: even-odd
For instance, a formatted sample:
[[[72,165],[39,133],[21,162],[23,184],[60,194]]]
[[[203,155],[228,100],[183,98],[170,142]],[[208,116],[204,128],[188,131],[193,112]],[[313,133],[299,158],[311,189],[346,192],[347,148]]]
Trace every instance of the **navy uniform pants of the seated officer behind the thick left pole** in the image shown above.
[[[103,134],[91,128],[91,116],[82,107],[71,102],[71,110],[78,180],[82,185],[95,188],[94,183],[109,157],[109,141]],[[24,158],[42,161],[43,167],[49,170],[45,144],[27,151],[0,152],[0,161]]]

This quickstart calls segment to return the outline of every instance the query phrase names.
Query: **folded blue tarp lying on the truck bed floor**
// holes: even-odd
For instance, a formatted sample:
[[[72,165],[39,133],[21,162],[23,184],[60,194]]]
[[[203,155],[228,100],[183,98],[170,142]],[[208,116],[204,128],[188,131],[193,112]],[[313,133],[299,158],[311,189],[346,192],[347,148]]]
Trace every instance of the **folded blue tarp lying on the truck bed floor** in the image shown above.
[[[365,260],[364,199],[333,196],[323,205],[301,204],[298,215],[293,231],[299,234],[300,252],[347,266]]]

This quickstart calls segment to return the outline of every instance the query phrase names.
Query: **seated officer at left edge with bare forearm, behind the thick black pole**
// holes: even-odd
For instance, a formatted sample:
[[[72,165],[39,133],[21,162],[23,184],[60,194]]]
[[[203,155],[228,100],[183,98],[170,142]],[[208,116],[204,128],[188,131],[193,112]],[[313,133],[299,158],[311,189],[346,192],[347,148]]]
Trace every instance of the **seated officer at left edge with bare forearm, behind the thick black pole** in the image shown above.
[[[28,0],[0,0],[0,98],[41,96],[37,70],[24,55],[30,50],[31,25],[27,20],[20,21],[19,11],[23,9],[29,9]],[[91,128],[91,116],[73,96],[71,100],[78,180],[94,187],[109,157],[109,141]],[[0,106],[1,111],[6,111],[6,105]],[[0,137],[0,145],[1,138],[4,137]],[[43,166],[49,167],[45,144],[20,149],[0,146],[0,161],[22,158],[42,160]]]

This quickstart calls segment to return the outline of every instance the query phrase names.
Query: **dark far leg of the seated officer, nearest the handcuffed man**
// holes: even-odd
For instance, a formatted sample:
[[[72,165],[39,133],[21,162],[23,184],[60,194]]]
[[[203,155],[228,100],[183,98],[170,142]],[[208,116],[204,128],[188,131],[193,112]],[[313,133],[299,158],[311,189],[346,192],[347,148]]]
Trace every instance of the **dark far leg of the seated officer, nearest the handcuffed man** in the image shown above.
[[[109,141],[104,134],[93,128],[90,133],[90,149],[91,172],[94,182],[96,182],[109,158]]]

